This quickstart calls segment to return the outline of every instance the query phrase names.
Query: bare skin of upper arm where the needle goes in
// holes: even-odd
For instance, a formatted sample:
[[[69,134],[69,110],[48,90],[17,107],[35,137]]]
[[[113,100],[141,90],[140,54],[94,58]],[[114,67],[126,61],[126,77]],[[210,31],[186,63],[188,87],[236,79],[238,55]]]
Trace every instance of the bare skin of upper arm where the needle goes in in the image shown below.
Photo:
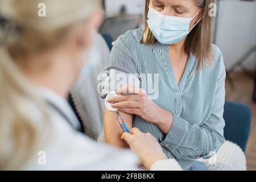
[[[123,120],[125,121],[129,130],[131,129],[132,114],[122,113]],[[128,147],[127,144],[121,139],[121,135],[123,130],[117,121],[117,114],[115,112],[109,111],[105,108],[105,115],[104,115],[104,133],[105,133],[105,142],[111,144],[113,146],[118,147]]]

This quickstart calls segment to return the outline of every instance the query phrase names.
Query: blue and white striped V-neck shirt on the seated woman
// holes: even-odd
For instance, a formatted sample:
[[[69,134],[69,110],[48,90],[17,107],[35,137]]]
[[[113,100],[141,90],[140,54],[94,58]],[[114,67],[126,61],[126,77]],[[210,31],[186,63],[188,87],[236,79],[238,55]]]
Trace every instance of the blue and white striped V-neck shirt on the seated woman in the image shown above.
[[[189,169],[196,159],[214,155],[225,140],[226,72],[221,51],[213,45],[212,63],[204,64],[199,72],[196,72],[197,60],[191,53],[177,84],[167,45],[142,44],[142,37],[143,28],[138,28],[126,32],[113,43],[110,65],[102,72],[99,92],[105,97],[113,91],[106,89],[110,82],[114,82],[114,90],[125,85],[110,76],[111,71],[133,75],[155,104],[174,114],[168,134],[138,115],[133,116],[133,127],[154,135],[168,158],[175,158],[183,169]],[[130,80],[127,82],[129,84]]]

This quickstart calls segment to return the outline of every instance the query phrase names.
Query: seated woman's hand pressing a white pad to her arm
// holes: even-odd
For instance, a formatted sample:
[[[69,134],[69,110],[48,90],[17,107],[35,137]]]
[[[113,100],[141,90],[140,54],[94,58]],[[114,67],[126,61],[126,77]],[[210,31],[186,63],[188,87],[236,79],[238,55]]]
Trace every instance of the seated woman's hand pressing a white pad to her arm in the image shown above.
[[[123,86],[116,93],[119,96],[108,100],[108,102],[113,103],[112,107],[118,108],[124,113],[139,115],[147,122],[155,123],[165,134],[171,129],[172,113],[148,99],[147,93],[143,89],[134,86]],[[122,94],[128,95],[124,96]]]

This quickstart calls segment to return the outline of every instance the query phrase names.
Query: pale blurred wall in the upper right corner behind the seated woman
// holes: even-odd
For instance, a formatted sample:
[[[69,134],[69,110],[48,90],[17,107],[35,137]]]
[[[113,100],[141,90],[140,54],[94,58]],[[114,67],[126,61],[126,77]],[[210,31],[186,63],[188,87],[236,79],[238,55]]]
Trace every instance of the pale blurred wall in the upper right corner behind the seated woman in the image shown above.
[[[220,47],[226,68],[256,45],[256,3],[254,1],[219,1],[216,44]],[[256,52],[243,64],[250,71],[256,67]]]

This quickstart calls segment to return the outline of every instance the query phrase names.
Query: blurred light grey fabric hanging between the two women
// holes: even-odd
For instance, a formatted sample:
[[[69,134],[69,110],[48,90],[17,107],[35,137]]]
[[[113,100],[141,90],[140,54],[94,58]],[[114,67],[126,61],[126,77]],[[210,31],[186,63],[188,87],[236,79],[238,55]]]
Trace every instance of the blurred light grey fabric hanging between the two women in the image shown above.
[[[94,42],[86,68],[79,76],[71,90],[71,97],[80,116],[85,134],[93,139],[103,133],[104,100],[97,92],[97,80],[100,72],[109,64],[110,51],[105,40],[98,33],[94,34]]]

